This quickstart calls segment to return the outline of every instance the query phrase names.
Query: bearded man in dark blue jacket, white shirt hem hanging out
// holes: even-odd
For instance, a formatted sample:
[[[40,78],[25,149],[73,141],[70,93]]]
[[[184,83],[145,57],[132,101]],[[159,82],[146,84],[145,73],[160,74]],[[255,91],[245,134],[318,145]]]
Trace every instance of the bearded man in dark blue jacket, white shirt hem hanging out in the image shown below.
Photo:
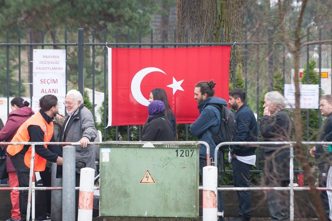
[[[257,121],[252,110],[245,104],[246,94],[241,88],[229,91],[229,105],[236,110],[237,123],[236,136],[233,141],[257,141]],[[250,165],[255,165],[256,147],[234,145],[229,152],[229,162],[233,167],[234,187],[249,187]],[[237,191],[239,199],[238,216],[230,221],[250,220],[251,193],[250,191]]]

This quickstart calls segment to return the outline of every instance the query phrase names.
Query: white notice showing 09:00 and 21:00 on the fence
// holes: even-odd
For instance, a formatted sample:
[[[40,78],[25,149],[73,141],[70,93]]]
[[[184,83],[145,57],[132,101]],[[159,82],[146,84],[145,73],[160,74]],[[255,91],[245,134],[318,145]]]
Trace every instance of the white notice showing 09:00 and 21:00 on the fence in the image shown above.
[[[318,84],[300,84],[300,108],[318,109]],[[295,108],[295,85],[285,84],[286,108]]]

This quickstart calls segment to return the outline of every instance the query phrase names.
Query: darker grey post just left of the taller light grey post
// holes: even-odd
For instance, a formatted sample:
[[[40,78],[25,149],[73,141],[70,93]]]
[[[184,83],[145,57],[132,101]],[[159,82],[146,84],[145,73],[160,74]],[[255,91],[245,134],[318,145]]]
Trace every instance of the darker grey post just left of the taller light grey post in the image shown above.
[[[52,163],[52,187],[61,187],[62,178],[56,178],[56,163]],[[62,221],[62,191],[52,190],[51,192],[51,215],[52,220]]]

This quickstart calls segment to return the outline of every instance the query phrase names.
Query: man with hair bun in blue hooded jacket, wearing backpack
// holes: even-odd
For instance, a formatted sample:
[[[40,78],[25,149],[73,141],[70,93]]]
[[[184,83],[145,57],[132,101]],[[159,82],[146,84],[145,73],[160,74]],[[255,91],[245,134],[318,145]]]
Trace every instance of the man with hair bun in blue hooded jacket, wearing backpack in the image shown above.
[[[209,104],[225,105],[227,102],[220,98],[214,97],[214,86],[213,80],[207,82],[202,81],[195,85],[194,98],[198,103],[198,110],[200,116],[197,120],[190,125],[190,132],[198,137],[198,140],[205,141],[210,146],[210,157],[214,158],[214,150],[217,143],[214,143],[210,130],[217,134],[221,124],[220,111],[217,107]],[[210,129],[210,130],[209,130]],[[203,178],[203,167],[207,165],[207,147],[201,144],[200,147],[200,171]],[[219,179],[218,179],[219,181]],[[221,191],[218,191],[218,211],[224,211],[224,202]],[[219,221],[224,220],[222,216],[219,217]]]

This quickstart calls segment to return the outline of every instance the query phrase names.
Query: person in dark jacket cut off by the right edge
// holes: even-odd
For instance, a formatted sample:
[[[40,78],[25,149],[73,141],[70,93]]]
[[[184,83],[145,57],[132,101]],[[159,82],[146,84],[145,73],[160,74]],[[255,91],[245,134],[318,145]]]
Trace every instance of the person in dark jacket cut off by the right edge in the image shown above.
[[[319,132],[317,141],[332,141],[332,95],[327,94],[320,98],[319,109],[324,117],[327,117]],[[319,187],[332,187],[332,152],[331,145],[318,145],[310,149],[312,157],[316,158],[319,169]],[[330,182],[327,182],[330,180]],[[321,199],[328,220],[332,220],[332,191],[322,191]]]

